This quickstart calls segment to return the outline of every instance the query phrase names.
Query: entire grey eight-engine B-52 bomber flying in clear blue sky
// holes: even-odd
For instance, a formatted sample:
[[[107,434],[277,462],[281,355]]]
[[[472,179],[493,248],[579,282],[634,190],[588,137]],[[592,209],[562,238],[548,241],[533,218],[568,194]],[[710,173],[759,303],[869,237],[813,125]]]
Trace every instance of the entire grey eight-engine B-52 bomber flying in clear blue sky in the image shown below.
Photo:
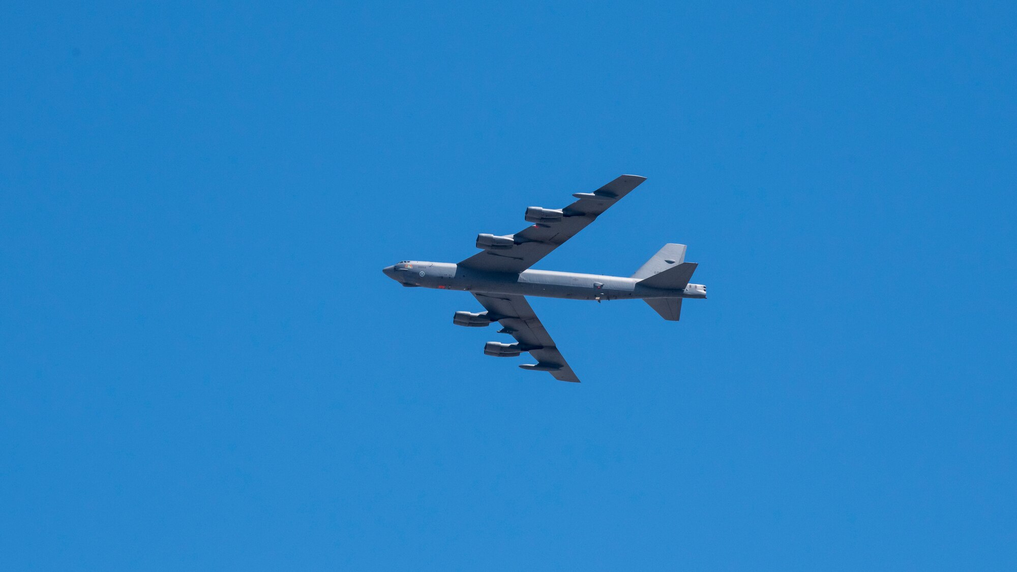
[[[453,324],[478,328],[497,322],[499,334],[516,338],[514,344],[487,342],[484,353],[515,357],[530,352],[538,362],[520,367],[548,371],[562,382],[579,382],[525,296],[598,302],[642,298],[671,321],[678,320],[683,298],[706,298],[706,286],[689,283],[696,263],[684,262],[684,244],[665,244],[629,278],[529,270],[645,180],[621,175],[593,192],[573,194],[578,201],[564,209],[530,207],[526,220],[532,226],[506,236],[478,234],[481,251],[459,264],[403,261],[382,272],[406,287],[472,293],[486,311],[457,311]]]

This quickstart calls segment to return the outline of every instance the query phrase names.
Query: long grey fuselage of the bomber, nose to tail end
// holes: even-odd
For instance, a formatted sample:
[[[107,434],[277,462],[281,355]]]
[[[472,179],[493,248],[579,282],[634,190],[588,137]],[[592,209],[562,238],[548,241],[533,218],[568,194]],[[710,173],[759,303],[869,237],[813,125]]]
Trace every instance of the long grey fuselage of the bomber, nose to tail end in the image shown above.
[[[404,261],[385,267],[385,276],[403,286],[439,290],[463,290],[490,294],[518,294],[577,300],[630,298],[706,298],[706,286],[689,284],[684,289],[652,288],[641,279],[598,274],[576,274],[526,270],[519,274],[484,272],[448,263]]]

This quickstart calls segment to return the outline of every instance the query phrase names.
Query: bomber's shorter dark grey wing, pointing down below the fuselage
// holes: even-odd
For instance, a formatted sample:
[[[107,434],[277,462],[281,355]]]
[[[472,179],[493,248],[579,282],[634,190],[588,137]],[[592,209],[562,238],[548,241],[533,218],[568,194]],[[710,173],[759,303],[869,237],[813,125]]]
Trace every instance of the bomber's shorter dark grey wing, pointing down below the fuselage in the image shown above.
[[[516,351],[528,351],[537,358],[538,363],[520,365],[524,369],[547,371],[555,380],[562,382],[579,382],[575,371],[565,362],[565,358],[554,346],[554,340],[544,330],[544,325],[533,312],[530,303],[523,296],[514,294],[473,294],[488,316],[495,318],[501,324],[501,332],[511,334],[519,345],[515,348],[504,348],[504,353],[515,355]],[[494,344],[497,345],[497,344]],[[495,350],[501,352],[502,350]],[[487,350],[485,349],[485,353]],[[492,353],[491,355],[498,355]]]

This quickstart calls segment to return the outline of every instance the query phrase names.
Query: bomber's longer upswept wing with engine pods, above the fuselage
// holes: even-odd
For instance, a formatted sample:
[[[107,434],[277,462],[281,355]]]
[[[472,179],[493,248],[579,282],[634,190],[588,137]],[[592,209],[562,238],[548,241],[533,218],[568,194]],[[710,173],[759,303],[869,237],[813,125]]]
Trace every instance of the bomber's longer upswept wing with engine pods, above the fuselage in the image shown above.
[[[526,210],[526,220],[534,223],[533,226],[508,236],[479,235],[477,247],[483,250],[459,266],[488,272],[523,272],[586,228],[645,180],[646,177],[639,175],[621,175],[593,192],[573,194],[578,201],[564,209],[530,207]]]

